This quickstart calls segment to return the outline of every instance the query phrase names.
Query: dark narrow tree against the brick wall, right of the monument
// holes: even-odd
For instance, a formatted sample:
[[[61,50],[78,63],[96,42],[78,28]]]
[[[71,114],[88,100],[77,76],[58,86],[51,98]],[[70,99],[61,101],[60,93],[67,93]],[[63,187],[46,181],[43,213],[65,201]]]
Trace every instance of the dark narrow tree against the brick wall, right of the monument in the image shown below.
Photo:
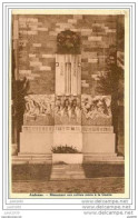
[[[120,81],[124,81],[124,70],[117,66],[116,47],[110,47],[109,56],[107,57],[107,67],[105,73],[99,76],[97,91],[102,95],[111,96],[111,112],[112,125],[116,133],[116,151],[118,141],[118,116],[119,100],[124,99],[124,89],[120,87]]]

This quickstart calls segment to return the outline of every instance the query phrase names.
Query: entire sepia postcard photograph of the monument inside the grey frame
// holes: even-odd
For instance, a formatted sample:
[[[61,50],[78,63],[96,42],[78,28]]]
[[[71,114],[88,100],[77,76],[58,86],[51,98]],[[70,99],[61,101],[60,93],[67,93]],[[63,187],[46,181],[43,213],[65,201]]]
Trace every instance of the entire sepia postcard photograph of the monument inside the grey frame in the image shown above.
[[[11,14],[11,192],[124,195],[126,14],[62,11]]]

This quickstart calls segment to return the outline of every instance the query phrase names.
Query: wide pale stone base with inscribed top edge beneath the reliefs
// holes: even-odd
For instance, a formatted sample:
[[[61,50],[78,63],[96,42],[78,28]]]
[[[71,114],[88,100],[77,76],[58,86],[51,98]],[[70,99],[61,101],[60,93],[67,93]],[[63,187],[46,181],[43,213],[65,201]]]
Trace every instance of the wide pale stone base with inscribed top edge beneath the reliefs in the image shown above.
[[[23,126],[19,152],[30,156],[50,155],[52,147],[66,145],[72,146],[82,153],[82,162],[120,160],[116,153],[115,133],[111,126]]]

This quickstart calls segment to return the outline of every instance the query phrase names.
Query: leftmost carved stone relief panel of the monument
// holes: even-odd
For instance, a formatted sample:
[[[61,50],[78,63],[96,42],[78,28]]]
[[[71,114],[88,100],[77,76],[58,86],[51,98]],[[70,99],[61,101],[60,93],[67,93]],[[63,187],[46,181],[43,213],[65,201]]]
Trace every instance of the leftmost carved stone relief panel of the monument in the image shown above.
[[[24,97],[23,125],[55,125],[55,95],[29,95]]]

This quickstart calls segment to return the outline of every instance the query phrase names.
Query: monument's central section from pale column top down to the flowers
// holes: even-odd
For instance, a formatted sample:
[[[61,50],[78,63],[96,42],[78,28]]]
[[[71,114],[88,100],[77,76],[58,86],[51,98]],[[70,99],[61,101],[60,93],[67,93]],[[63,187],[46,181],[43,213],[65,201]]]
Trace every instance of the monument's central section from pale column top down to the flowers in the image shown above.
[[[82,150],[80,60],[80,54],[56,56],[53,132],[53,146],[72,146],[79,151]]]

